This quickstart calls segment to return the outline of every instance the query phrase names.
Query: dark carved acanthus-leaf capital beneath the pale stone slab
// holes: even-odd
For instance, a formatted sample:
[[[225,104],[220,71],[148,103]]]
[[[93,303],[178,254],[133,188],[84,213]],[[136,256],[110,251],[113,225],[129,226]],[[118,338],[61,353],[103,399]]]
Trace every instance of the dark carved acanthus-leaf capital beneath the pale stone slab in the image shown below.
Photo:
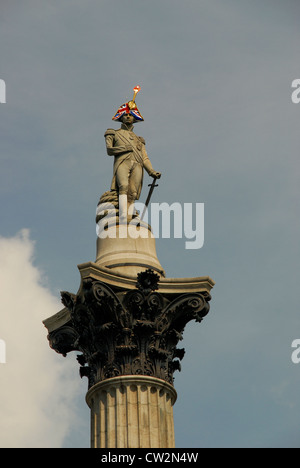
[[[178,349],[188,322],[201,322],[210,295],[159,292],[157,275],[140,274],[134,290],[113,290],[93,278],[83,280],[77,296],[62,292],[70,322],[52,334],[51,346],[61,354],[77,350],[80,375],[89,386],[119,375],[149,375],[173,384],[185,350]],[[171,297],[174,297],[172,295]]]

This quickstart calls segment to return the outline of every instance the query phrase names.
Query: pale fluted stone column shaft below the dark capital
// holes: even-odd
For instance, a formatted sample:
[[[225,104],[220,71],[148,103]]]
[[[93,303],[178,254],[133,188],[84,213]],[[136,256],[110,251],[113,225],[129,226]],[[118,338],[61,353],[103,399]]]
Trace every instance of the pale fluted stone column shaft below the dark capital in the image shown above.
[[[174,448],[176,390],[147,376],[115,377],[87,393],[92,448]]]

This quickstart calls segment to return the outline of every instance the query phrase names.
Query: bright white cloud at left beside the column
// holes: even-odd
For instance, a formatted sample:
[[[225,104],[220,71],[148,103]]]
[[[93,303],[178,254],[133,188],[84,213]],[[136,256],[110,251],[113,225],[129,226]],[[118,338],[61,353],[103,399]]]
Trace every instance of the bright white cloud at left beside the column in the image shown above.
[[[61,308],[33,264],[27,230],[0,237],[0,447],[61,447],[76,411],[74,366],[52,351],[42,320]],[[76,385],[77,382],[77,385]]]

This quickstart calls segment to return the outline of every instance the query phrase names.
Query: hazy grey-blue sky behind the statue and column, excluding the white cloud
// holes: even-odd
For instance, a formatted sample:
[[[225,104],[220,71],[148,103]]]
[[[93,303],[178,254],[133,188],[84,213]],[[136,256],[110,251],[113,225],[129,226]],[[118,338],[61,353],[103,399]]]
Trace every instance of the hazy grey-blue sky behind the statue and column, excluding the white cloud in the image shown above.
[[[52,294],[77,292],[76,265],[95,259],[96,204],[111,181],[103,135],[139,84],[145,122],[135,131],[163,173],[153,201],[205,203],[204,247],[158,239],[159,260],[170,277],[216,281],[210,314],[184,336],[177,446],[299,447],[299,2],[0,9],[0,236],[28,228]],[[89,443],[79,378],[78,388],[82,424],[62,446]]]

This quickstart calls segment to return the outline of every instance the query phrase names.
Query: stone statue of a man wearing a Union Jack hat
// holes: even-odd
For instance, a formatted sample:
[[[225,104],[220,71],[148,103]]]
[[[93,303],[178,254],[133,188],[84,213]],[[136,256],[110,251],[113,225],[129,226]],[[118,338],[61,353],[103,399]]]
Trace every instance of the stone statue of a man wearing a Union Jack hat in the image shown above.
[[[161,177],[148,158],[144,138],[133,131],[133,124],[144,120],[134,102],[139,90],[139,87],[134,88],[133,100],[123,104],[113,117],[113,120],[122,123],[121,128],[109,128],[105,132],[107,154],[115,158],[111,190],[118,192],[121,220],[127,220],[127,214],[133,214],[134,202],[139,199],[142,190],[144,168],[151,177]]]

